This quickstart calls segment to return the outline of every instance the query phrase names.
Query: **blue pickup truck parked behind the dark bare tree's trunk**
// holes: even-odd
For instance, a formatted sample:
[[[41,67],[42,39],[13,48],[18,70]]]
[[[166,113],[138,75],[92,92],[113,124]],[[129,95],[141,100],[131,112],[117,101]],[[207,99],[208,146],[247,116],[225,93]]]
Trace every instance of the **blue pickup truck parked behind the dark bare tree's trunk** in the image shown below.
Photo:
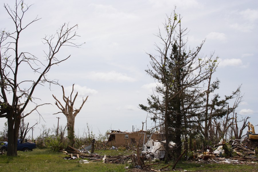
[[[7,146],[8,146],[8,142],[1,142],[0,143],[0,149],[2,151],[6,151]],[[18,139],[17,150],[27,152],[27,151],[32,150],[34,148],[36,148],[36,143],[29,143],[29,142],[22,143],[22,140]]]

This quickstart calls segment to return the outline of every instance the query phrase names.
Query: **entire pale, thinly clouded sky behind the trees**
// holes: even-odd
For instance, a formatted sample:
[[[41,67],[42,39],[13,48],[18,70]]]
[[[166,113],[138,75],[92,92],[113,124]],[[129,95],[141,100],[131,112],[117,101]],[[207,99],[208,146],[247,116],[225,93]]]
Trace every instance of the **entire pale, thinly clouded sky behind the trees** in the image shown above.
[[[1,29],[13,30],[13,23],[3,5],[14,7],[14,0],[0,0]],[[75,134],[82,136],[87,124],[94,134],[107,130],[132,131],[142,128],[147,119],[147,128],[152,127],[148,114],[139,108],[155,89],[154,80],[144,70],[150,64],[147,53],[157,54],[155,36],[163,29],[166,15],[176,7],[181,26],[187,28],[187,45],[195,48],[206,40],[201,54],[219,57],[214,79],[220,80],[217,93],[223,98],[239,85],[243,101],[236,112],[239,118],[249,116],[249,121],[258,125],[257,109],[257,54],[258,54],[258,1],[255,0],[25,0],[32,5],[24,16],[24,23],[35,17],[41,18],[28,27],[20,36],[20,50],[43,59],[47,47],[42,44],[45,35],[51,35],[64,23],[78,24],[76,43],[80,48],[65,47],[59,56],[71,57],[51,69],[48,77],[58,79],[70,95],[75,84],[78,91],[75,108],[89,96],[75,118]],[[21,78],[36,77],[26,69],[20,70]],[[54,105],[55,95],[62,100],[59,86],[45,84],[37,87],[36,103],[51,103],[38,108],[25,118],[34,125],[34,137],[40,134],[42,125],[47,128],[66,125],[63,114]],[[31,103],[26,112],[34,108]],[[55,115],[54,115],[55,114]],[[43,118],[43,119],[42,119]],[[0,118],[0,128],[7,120]],[[144,129],[146,128],[144,124]],[[258,130],[258,127],[255,127]],[[29,132],[28,134],[32,134]]]

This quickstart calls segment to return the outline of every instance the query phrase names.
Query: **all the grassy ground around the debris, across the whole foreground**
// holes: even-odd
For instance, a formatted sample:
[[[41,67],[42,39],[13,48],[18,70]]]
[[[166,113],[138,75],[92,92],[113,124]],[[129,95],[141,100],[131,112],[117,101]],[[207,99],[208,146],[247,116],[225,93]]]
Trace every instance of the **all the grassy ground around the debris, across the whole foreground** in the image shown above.
[[[131,151],[122,150],[98,150],[96,151],[99,155],[130,155]],[[135,168],[124,169],[129,164],[111,164],[94,162],[81,164],[76,160],[65,160],[63,159],[66,155],[62,153],[54,153],[48,149],[34,149],[32,152],[21,152],[18,151],[17,157],[7,157],[6,155],[0,155],[0,171],[5,172],[18,172],[18,171],[151,171],[150,169],[159,170],[166,164],[161,163],[159,165],[152,165],[149,169],[138,170]],[[173,162],[170,162],[173,164]],[[169,166],[171,169],[173,165]],[[165,169],[168,171],[168,169]],[[176,171],[258,171],[258,166],[256,165],[245,165],[245,164],[200,164],[191,163],[189,161],[178,163],[176,166]],[[171,170],[170,170],[171,171]]]

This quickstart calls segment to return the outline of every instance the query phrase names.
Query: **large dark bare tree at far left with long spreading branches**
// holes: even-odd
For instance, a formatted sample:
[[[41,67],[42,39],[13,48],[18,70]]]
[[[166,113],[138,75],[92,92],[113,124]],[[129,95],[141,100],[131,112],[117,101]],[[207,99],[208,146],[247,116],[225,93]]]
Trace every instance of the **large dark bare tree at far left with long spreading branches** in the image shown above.
[[[36,103],[37,98],[32,96],[36,87],[46,82],[58,84],[56,80],[49,80],[46,74],[53,65],[70,57],[70,55],[58,57],[61,47],[80,46],[73,43],[77,37],[75,31],[77,25],[69,27],[69,24],[63,24],[56,34],[46,35],[43,38],[43,43],[47,46],[47,51],[44,51],[45,60],[40,60],[42,58],[37,58],[30,52],[23,52],[19,48],[19,38],[26,28],[40,19],[36,17],[26,22],[24,18],[30,7],[31,5],[26,5],[24,0],[15,1],[14,9],[4,4],[4,9],[15,27],[14,31],[1,30],[0,32],[0,118],[7,118],[8,121],[8,156],[17,155],[16,145],[21,115],[30,102]],[[19,77],[24,67],[34,72],[34,78]]]

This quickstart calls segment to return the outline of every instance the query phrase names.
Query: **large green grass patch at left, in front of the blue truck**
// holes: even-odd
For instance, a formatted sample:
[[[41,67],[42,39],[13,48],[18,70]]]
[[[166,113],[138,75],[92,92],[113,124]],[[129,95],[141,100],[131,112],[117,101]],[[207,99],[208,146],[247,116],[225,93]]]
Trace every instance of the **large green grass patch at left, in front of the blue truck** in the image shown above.
[[[59,157],[60,156],[60,157]],[[0,169],[5,172],[18,171],[124,171],[124,164],[94,162],[80,164],[78,160],[64,160],[62,153],[48,149],[34,149],[32,152],[18,151],[17,157],[0,155]]]

